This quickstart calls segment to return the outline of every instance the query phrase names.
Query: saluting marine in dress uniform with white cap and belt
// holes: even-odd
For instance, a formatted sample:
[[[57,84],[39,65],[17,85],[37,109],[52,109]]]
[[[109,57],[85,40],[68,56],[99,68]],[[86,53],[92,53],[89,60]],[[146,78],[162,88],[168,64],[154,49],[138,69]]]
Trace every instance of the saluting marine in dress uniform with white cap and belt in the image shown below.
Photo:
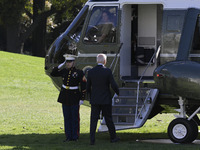
[[[65,142],[77,141],[80,125],[79,104],[82,104],[85,99],[86,79],[83,71],[74,67],[75,56],[68,54],[63,56],[65,57],[65,62],[55,67],[51,76],[60,76],[63,79],[58,102],[62,103]]]

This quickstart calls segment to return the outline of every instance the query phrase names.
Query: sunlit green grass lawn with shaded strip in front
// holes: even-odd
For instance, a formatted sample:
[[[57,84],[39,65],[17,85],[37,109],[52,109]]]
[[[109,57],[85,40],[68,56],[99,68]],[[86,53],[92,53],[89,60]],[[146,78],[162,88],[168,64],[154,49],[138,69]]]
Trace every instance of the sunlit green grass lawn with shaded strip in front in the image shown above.
[[[117,131],[121,141],[109,142],[108,133],[97,133],[89,145],[90,108],[81,106],[80,140],[63,143],[63,116],[59,91],[44,72],[44,59],[0,51],[0,149],[200,149],[195,144],[153,144],[144,139],[168,138],[172,114],[158,115],[140,129]]]

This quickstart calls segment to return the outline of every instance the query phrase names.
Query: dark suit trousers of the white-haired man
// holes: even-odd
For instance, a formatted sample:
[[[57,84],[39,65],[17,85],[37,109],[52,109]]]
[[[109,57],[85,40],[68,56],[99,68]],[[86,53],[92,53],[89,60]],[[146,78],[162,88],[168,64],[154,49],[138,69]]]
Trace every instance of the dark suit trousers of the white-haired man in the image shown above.
[[[97,128],[97,122],[99,119],[100,111],[102,111],[105,117],[106,125],[110,134],[110,138],[116,137],[115,126],[112,120],[112,105],[91,105],[91,116],[90,116],[90,141],[95,141],[95,132]]]

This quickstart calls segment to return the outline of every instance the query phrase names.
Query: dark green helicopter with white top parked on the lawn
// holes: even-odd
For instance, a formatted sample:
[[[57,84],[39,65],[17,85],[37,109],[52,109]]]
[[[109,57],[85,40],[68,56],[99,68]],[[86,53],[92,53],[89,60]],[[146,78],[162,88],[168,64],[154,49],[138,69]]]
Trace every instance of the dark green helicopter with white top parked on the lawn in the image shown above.
[[[191,143],[200,120],[199,0],[89,0],[69,27],[50,46],[45,72],[50,75],[76,55],[76,67],[87,71],[99,53],[120,87],[113,93],[116,130],[142,127],[159,113],[176,113],[168,126],[174,143]],[[103,20],[107,15],[107,21]],[[178,115],[177,115],[178,113]],[[98,131],[107,131],[100,120]]]

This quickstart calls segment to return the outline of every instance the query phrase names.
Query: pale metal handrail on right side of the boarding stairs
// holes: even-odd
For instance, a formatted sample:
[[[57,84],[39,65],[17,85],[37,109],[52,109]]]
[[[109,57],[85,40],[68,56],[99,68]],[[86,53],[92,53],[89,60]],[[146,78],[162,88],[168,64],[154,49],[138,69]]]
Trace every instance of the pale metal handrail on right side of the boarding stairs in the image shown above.
[[[140,79],[137,82],[137,100],[136,100],[136,112],[135,112],[135,120],[137,118],[137,114],[138,114],[138,102],[139,102],[139,91],[140,91],[140,82],[144,76],[144,74],[146,73],[147,69],[149,68],[149,66],[151,65],[152,60],[154,59],[154,57],[156,56],[156,59],[158,58],[158,55],[160,53],[160,49],[161,49],[161,45],[158,46],[158,49],[154,52],[153,56],[151,57],[150,61],[148,62],[147,66],[145,67],[145,70],[143,71]]]

